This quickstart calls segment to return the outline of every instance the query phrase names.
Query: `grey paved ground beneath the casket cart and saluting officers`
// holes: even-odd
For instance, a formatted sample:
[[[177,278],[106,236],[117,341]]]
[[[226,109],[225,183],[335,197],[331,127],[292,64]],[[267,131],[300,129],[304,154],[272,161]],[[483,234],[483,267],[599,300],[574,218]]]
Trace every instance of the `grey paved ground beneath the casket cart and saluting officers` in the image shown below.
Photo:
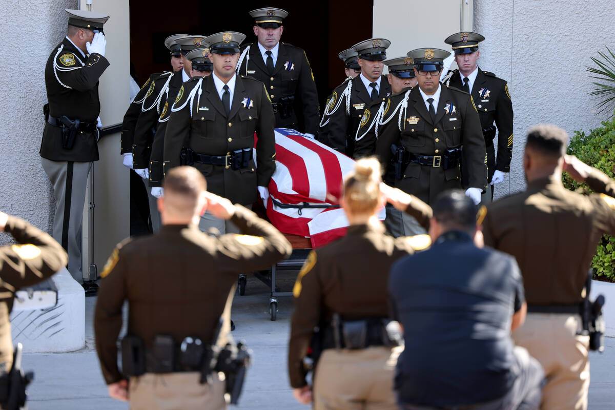
[[[282,290],[290,290],[295,275],[282,273]],[[286,373],[288,326],[291,298],[280,298],[277,321],[269,320],[269,291],[256,278],[248,278],[245,296],[237,295],[233,336],[245,339],[253,350],[255,363],[248,373],[239,408],[249,410],[308,409],[293,399]],[[30,392],[31,410],[127,409],[107,395],[93,347],[92,313],[95,298],[86,298],[86,342],[84,350],[65,354],[24,355],[24,366],[36,372]],[[606,339],[606,352],[592,353],[590,410],[615,408],[615,338]]]

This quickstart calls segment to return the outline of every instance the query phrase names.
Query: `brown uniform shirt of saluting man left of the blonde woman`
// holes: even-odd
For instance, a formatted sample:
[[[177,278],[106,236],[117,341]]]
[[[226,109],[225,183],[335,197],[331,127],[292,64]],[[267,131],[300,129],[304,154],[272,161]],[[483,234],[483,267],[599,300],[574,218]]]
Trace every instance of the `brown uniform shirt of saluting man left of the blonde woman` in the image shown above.
[[[140,336],[146,347],[157,334],[172,336],[178,344],[186,336],[210,343],[223,311],[223,333],[228,329],[226,310],[237,274],[290,255],[284,235],[252,211],[237,205],[231,221],[244,235],[216,237],[197,226],[165,225],[158,234],[129,240],[113,251],[101,274],[94,317],[96,350],[108,384],[123,378],[116,341],[124,301],[129,302],[128,333]]]

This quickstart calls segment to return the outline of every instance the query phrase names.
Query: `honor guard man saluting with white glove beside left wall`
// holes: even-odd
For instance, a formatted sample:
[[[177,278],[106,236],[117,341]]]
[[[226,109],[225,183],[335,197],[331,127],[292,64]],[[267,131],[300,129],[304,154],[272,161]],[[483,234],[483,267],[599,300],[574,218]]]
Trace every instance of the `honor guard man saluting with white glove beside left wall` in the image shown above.
[[[66,10],[68,33],[45,67],[47,103],[41,163],[54,186],[53,237],[68,251],[68,271],[83,283],[81,221],[85,186],[98,160],[98,79],[109,66],[103,24],[108,15]]]

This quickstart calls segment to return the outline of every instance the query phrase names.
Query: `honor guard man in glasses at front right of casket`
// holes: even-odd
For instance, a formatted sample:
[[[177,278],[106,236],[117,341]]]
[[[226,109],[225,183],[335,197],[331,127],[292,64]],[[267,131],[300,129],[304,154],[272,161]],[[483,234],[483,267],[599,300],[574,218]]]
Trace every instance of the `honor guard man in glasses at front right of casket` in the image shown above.
[[[459,164],[466,161],[466,194],[478,203],[486,182],[485,140],[470,95],[440,84],[448,55],[440,49],[408,53],[418,86],[405,94],[401,120],[391,121],[378,136],[376,154],[383,167],[393,160],[395,187],[427,203],[442,191],[461,188]],[[424,233],[416,221],[402,217],[405,235]]]

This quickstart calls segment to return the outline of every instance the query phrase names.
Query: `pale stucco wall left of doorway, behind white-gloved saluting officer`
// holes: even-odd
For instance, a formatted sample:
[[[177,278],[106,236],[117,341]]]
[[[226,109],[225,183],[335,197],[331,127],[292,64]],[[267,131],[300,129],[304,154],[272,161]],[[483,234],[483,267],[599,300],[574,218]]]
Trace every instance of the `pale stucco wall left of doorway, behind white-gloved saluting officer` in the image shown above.
[[[0,17],[0,210],[50,232],[54,194],[38,154],[47,102],[44,69],[76,0],[2,0]],[[0,243],[9,240],[0,236]]]

